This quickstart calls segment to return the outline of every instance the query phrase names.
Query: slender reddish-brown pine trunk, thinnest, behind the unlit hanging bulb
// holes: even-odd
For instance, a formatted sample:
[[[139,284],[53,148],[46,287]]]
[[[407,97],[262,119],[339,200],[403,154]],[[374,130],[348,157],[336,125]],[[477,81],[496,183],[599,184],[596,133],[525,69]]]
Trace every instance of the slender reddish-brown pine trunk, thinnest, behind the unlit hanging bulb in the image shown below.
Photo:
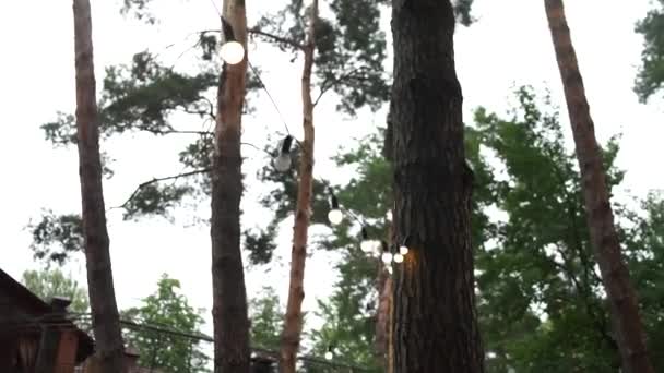
[[[303,330],[303,300],[305,299],[305,262],[307,260],[307,238],[309,232],[309,207],[313,184],[313,103],[311,100],[311,69],[316,51],[315,26],[318,22],[318,0],[310,8],[307,43],[304,46],[305,63],[301,77],[303,129],[305,140],[300,152],[299,184],[297,206],[293,228],[293,249],[290,251],[290,282],[286,317],[282,332],[280,372],[295,373],[295,361]]]

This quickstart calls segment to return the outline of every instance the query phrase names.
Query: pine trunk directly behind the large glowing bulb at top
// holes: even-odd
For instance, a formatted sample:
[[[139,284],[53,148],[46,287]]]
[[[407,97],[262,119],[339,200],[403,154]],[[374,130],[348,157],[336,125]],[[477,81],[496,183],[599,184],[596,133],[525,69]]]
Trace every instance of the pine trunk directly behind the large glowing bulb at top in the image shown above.
[[[235,38],[246,46],[245,1],[225,0],[223,14]],[[240,133],[246,74],[247,58],[238,64],[225,64],[217,92],[211,221],[215,373],[248,373],[250,369],[247,290],[240,251]]]

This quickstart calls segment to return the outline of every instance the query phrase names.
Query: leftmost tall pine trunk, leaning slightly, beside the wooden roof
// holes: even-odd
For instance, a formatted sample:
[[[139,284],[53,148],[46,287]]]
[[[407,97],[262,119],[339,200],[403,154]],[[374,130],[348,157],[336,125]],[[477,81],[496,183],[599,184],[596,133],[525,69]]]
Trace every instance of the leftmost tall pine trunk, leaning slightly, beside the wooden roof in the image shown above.
[[[110,266],[106,208],[102,189],[99,117],[92,47],[88,0],[74,0],[74,52],[76,68],[76,134],[79,175],[83,204],[85,262],[96,350],[104,373],[123,372],[120,316]]]

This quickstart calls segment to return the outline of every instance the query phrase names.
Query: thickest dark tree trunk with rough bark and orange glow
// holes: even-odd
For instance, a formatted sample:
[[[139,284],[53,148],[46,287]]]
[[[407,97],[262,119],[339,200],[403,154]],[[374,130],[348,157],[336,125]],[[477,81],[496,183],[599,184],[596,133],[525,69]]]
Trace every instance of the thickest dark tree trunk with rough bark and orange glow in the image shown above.
[[[484,372],[470,232],[461,86],[449,0],[394,0],[394,372]]]

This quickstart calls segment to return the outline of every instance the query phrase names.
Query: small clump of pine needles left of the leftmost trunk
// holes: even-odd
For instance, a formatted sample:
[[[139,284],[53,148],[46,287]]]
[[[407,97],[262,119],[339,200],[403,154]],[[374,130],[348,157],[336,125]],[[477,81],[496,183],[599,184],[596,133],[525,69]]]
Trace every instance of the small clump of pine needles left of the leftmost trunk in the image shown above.
[[[29,225],[33,234],[31,249],[35,258],[62,265],[72,252],[83,250],[83,221],[80,215],[56,216],[47,210],[42,220]]]

